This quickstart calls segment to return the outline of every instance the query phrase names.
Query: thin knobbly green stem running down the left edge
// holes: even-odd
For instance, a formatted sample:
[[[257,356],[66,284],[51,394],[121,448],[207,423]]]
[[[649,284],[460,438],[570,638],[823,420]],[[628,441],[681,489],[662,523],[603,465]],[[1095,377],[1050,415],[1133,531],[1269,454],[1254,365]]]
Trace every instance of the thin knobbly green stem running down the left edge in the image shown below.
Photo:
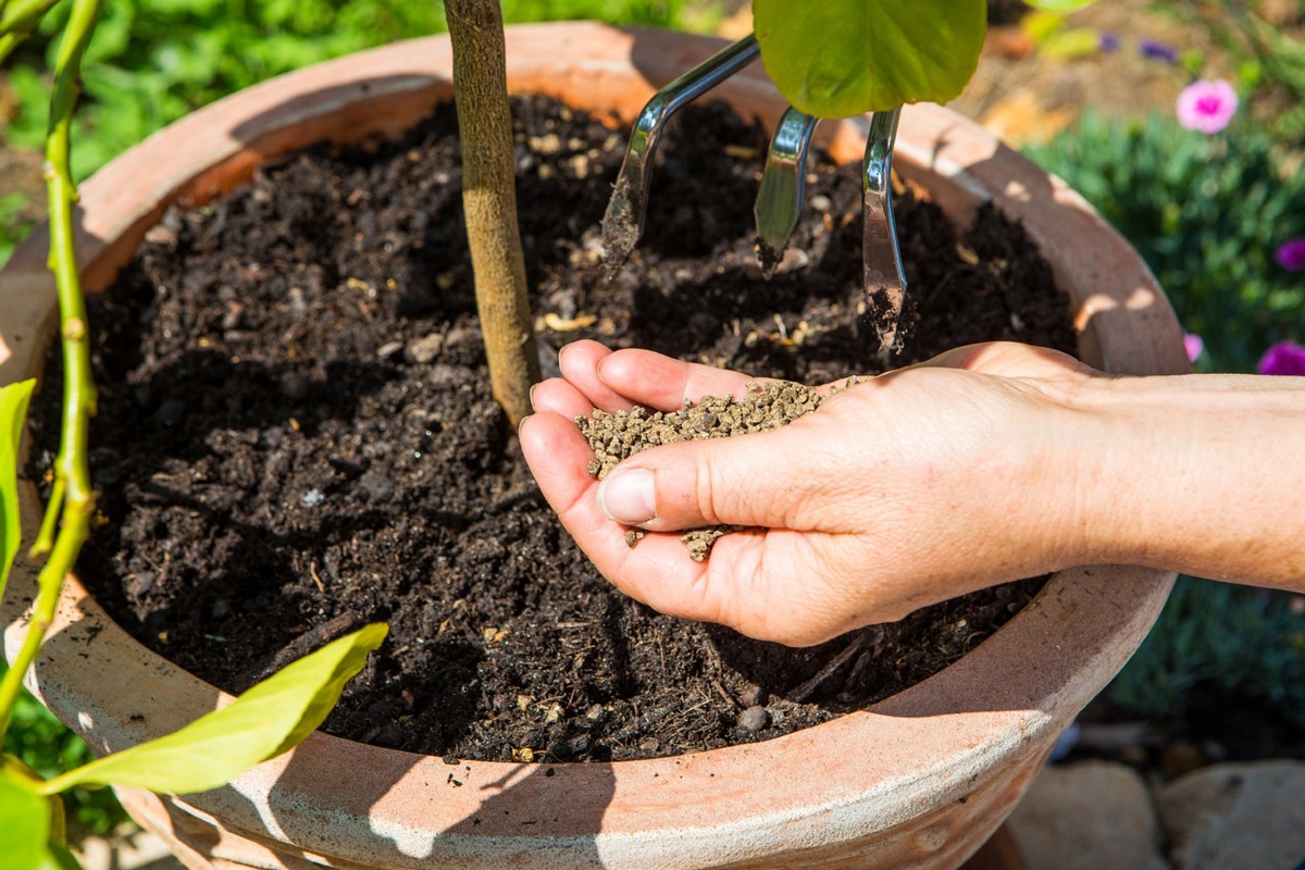
[[[64,357],[63,432],[55,459],[56,497],[46,507],[46,520],[31,548],[34,557],[48,554],[50,558],[38,575],[39,590],[22,647],[0,680],[0,736],[8,729],[22,677],[37,659],[46,631],[55,618],[64,577],[72,570],[82,543],[90,533],[90,518],[95,510],[86,451],[90,417],[95,412],[95,383],[90,370],[86,303],[77,269],[73,220],[77,185],[73,184],[69,168],[69,133],[77,95],[81,93],[81,59],[99,18],[99,9],[100,0],[73,0],[55,63],[55,94],[50,100],[44,175],[50,200],[50,269],[55,273],[59,295]],[[56,515],[61,522],[54,522]]]

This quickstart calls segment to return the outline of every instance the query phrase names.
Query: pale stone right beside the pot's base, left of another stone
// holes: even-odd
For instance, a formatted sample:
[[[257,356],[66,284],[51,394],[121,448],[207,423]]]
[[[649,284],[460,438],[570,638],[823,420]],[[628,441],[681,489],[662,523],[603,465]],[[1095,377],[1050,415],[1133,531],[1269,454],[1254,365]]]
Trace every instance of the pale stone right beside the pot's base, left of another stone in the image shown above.
[[[1151,794],[1133,768],[1043,768],[1007,820],[1027,870],[1168,870]]]

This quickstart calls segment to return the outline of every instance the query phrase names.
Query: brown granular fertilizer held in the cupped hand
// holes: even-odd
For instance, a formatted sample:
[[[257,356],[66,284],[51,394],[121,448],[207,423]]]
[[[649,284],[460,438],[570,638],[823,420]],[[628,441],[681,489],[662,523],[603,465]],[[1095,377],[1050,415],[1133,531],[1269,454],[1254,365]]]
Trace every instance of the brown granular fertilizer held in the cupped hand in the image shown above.
[[[577,417],[576,424],[594,450],[589,473],[602,480],[622,459],[649,447],[778,429],[818,408],[821,398],[814,387],[771,381],[748,385],[743,399],[709,395],[697,404],[685,402],[683,408],[669,413],[642,407],[616,413],[595,410],[589,417]],[[722,535],[743,528],[744,526],[693,528],[681,540],[688,545],[690,558],[701,562],[710,556],[713,544]],[[625,535],[625,543],[634,547],[641,537],[643,532],[630,530]]]

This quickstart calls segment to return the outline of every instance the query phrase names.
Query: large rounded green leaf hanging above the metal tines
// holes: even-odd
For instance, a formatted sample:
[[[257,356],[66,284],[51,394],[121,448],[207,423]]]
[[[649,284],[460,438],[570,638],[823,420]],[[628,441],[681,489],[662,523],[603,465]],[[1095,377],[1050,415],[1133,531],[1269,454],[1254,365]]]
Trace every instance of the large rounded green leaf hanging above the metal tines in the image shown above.
[[[974,76],[985,0],[754,0],[766,72],[817,117],[946,102]]]

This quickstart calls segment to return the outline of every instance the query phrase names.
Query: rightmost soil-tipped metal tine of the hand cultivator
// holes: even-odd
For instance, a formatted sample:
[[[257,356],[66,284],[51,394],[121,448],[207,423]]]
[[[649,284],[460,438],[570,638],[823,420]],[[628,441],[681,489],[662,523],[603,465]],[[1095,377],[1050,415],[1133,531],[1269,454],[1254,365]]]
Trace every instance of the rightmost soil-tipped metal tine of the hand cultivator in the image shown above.
[[[865,231],[861,239],[861,262],[870,318],[880,333],[880,359],[902,350],[898,321],[906,297],[906,274],[898,248],[897,223],[893,220],[893,145],[897,141],[902,107],[876,112],[865,141],[861,163],[861,188]]]

